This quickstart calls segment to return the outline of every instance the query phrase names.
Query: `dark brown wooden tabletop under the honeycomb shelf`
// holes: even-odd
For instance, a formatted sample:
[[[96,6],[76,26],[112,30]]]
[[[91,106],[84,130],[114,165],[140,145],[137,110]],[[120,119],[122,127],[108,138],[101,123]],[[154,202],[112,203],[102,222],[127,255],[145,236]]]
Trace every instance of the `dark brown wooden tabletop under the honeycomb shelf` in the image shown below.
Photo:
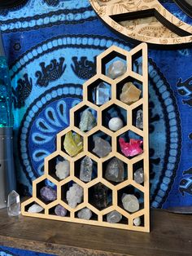
[[[151,210],[151,233],[54,220],[8,217],[0,210],[0,245],[73,255],[192,255],[192,215]]]

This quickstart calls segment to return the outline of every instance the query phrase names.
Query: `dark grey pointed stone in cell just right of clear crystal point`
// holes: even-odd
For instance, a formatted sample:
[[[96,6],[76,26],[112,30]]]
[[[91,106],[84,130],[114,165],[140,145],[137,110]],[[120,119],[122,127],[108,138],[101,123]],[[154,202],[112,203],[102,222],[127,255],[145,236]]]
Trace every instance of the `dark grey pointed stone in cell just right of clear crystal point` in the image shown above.
[[[124,163],[120,159],[114,157],[107,164],[105,178],[116,183],[124,181]]]

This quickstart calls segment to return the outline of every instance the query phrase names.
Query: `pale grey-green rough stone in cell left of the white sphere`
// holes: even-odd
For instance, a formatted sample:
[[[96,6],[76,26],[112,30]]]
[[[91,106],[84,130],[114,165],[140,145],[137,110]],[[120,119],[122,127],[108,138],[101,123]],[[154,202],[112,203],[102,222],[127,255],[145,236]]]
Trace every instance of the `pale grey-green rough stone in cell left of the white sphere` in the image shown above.
[[[81,131],[87,131],[97,126],[97,121],[94,118],[94,115],[89,111],[89,109],[85,109],[81,115],[81,121],[79,128]]]

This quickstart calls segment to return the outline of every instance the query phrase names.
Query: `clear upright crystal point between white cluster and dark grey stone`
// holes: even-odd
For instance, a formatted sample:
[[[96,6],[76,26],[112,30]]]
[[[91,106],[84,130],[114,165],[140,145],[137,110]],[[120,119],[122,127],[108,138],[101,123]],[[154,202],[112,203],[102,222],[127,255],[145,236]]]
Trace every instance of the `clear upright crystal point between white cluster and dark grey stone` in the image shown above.
[[[93,171],[93,161],[90,157],[85,157],[81,161],[80,179],[84,182],[91,181]]]

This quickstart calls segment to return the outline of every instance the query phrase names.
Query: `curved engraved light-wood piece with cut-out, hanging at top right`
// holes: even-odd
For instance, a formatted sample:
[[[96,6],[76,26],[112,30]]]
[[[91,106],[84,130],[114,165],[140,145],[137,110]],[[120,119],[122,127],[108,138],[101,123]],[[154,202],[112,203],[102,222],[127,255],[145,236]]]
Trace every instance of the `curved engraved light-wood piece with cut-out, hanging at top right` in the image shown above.
[[[157,45],[192,42],[192,26],[158,0],[89,0],[98,15],[124,36]]]

